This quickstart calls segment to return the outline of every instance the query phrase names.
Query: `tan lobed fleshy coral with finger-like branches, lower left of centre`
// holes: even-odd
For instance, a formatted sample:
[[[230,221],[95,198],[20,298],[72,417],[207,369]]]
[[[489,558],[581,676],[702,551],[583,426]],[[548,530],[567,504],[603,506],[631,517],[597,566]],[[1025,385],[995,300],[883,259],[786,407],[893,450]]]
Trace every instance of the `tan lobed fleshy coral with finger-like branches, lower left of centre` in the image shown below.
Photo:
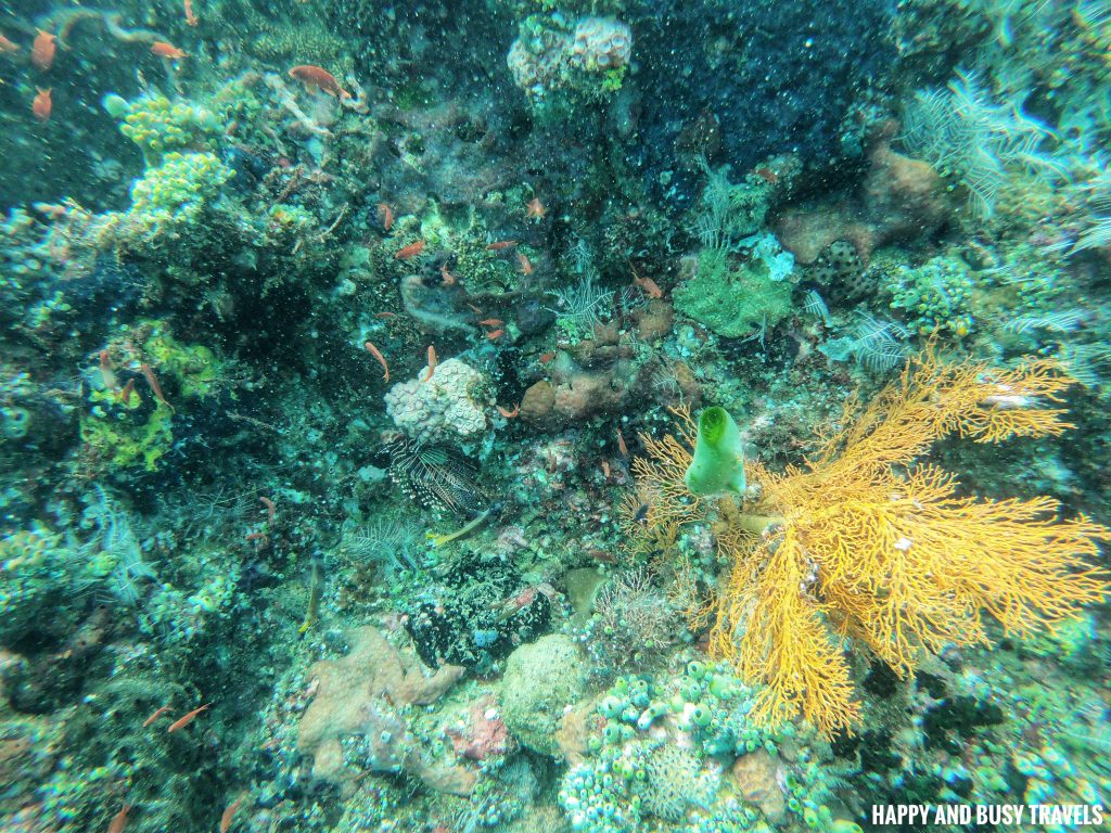
[[[344,741],[359,737],[369,769],[404,772],[432,790],[466,795],[474,774],[427,760],[404,716],[404,706],[436,702],[462,674],[458,665],[443,665],[427,676],[416,656],[400,652],[378,629],[360,628],[347,656],[309,670],[318,688],[298,726],[298,750],[313,759],[314,777],[350,790],[357,773],[344,760]]]

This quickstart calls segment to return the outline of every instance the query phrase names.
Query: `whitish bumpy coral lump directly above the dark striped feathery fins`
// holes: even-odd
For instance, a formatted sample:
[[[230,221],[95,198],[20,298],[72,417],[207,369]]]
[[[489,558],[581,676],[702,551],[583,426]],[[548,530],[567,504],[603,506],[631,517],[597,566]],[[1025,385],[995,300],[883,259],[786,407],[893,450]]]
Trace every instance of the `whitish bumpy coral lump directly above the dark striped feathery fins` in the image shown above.
[[[393,424],[423,442],[481,434],[490,404],[487,378],[459,359],[439,364],[431,378],[424,368],[417,379],[396,384],[386,394],[386,411]]]

